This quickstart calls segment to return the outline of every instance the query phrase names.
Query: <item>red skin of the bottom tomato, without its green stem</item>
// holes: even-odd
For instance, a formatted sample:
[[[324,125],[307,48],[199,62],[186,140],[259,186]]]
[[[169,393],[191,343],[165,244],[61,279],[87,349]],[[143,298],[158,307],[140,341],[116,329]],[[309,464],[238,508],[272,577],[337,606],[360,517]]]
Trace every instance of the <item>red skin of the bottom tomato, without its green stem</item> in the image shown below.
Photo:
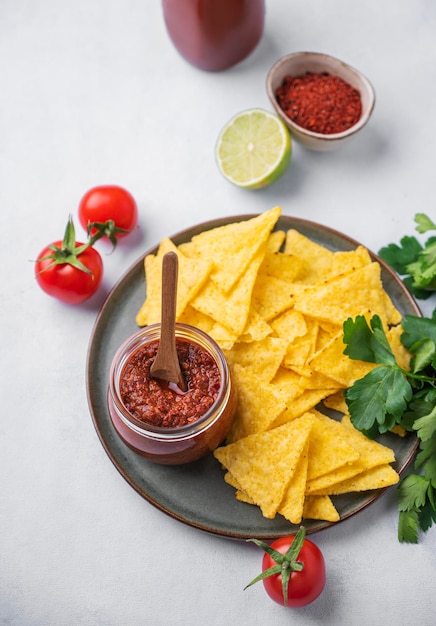
[[[282,537],[271,544],[271,547],[281,554],[285,554],[292,545],[294,537]],[[310,604],[324,589],[326,572],[325,562],[321,550],[314,543],[305,539],[298,554],[297,561],[303,563],[301,571],[291,572],[288,584],[287,606],[301,607]],[[276,562],[265,553],[262,560],[262,570],[274,567]],[[282,575],[273,574],[263,580],[267,594],[274,602],[285,604],[282,590]]]

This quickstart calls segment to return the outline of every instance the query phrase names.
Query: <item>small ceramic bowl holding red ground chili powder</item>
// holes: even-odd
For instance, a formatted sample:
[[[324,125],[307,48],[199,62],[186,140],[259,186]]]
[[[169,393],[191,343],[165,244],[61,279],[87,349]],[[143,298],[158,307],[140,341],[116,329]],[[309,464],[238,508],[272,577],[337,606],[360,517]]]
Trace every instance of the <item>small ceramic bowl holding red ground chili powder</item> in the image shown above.
[[[307,148],[332,150],[368,122],[374,89],[358,70],[318,52],[279,59],[267,76],[269,99],[292,136]]]

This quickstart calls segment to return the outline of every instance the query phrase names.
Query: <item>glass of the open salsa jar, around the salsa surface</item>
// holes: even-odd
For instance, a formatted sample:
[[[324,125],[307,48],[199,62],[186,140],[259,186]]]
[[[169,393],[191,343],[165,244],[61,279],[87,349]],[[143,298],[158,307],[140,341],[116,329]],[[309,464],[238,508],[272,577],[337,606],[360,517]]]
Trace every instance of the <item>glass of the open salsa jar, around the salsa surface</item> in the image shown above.
[[[187,324],[176,324],[176,339],[195,343],[212,356],[220,374],[218,396],[201,417],[185,426],[157,427],[135,418],[123,404],[120,381],[133,355],[160,338],[160,324],[152,324],[127,339],[110,369],[108,407],[119,437],[142,456],[166,465],[195,461],[214,450],[226,437],[236,412],[236,391],[225,357],[215,341]]]

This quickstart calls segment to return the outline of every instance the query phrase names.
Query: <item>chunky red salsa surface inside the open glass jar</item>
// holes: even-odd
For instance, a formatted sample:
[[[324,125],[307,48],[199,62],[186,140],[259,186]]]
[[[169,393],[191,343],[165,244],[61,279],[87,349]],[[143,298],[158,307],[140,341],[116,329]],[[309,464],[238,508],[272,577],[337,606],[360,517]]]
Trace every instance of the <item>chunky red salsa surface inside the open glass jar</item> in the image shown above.
[[[153,378],[150,367],[159,341],[151,341],[127,361],[120,376],[120,396],[136,419],[160,428],[177,428],[198,420],[218,397],[221,377],[212,356],[196,343],[176,340],[187,391]]]

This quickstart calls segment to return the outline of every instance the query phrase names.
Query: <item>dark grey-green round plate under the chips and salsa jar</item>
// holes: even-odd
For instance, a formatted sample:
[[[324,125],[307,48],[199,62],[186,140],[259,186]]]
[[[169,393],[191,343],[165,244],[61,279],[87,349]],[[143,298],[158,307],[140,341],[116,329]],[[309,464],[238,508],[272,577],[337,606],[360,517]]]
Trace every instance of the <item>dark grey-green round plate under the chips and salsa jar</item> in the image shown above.
[[[176,245],[189,241],[203,230],[229,222],[254,217],[241,215],[199,224],[171,237]],[[295,228],[313,241],[331,250],[352,250],[358,243],[349,237],[314,222],[282,216],[277,229]],[[157,248],[147,251],[155,253]],[[260,510],[238,502],[234,490],[223,479],[219,463],[212,455],[189,465],[158,465],[132,452],[118,438],[107,408],[109,368],[120,344],[137,330],[135,316],[145,297],[143,258],[141,257],[118,281],[96,320],[87,358],[87,393],[94,425],[100,441],[115,467],[126,481],[146,500],[164,513],[195,528],[217,535],[246,539],[274,539],[296,530],[283,517],[269,520]],[[378,257],[385,289],[404,315],[420,311],[394,272]],[[395,451],[395,469],[402,472],[412,460],[417,447],[415,436],[404,438],[386,435],[382,442]],[[383,493],[382,490],[334,497],[341,521],[355,515]],[[338,522],[336,522],[338,523]],[[331,526],[331,523],[305,520],[307,532]]]

